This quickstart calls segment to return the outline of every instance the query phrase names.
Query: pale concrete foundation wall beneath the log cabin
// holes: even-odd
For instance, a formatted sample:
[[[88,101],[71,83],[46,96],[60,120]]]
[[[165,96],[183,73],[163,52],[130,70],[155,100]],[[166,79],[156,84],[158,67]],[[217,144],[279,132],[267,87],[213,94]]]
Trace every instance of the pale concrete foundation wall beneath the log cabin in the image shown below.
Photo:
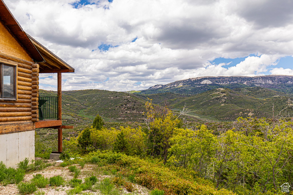
[[[0,161],[7,167],[16,167],[25,158],[35,159],[34,130],[0,135]]]

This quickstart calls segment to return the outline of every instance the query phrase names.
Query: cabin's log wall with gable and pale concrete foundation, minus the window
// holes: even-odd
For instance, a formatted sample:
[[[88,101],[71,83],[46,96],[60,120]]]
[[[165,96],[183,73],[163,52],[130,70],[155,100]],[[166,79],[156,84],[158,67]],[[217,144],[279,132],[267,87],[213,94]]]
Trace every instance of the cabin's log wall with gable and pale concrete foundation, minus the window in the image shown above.
[[[0,20],[0,63],[17,66],[16,100],[0,100],[0,161],[16,167],[35,158],[38,64]]]

